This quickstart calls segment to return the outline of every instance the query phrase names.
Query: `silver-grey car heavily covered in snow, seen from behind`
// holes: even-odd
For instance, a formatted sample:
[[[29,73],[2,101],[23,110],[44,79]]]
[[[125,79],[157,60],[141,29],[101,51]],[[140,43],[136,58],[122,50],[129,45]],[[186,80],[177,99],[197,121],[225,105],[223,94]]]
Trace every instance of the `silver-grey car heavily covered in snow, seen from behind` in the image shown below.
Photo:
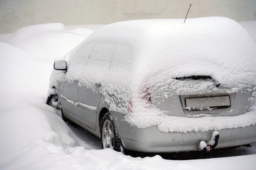
[[[47,103],[102,147],[179,152],[256,141],[256,43],[223,17],[123,21],[55,60]]]

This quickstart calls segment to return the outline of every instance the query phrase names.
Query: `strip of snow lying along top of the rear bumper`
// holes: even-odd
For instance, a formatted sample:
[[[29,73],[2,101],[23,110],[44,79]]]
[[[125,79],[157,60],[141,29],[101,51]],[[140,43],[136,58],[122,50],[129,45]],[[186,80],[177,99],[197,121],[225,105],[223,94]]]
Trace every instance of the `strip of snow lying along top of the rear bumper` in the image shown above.
[[[244,128],[256,123],[256,112],[250,111],[236,116],[205,115],[201,118],[178,117],[156,114],[154,111],[137,114],[136,120],[130,119],[132,125],[138,128],[147,128],[157,125],[161,132],[207,132],[208,130],[222,130],[230,128]],[[242,120],[242,121],[241,121]]]

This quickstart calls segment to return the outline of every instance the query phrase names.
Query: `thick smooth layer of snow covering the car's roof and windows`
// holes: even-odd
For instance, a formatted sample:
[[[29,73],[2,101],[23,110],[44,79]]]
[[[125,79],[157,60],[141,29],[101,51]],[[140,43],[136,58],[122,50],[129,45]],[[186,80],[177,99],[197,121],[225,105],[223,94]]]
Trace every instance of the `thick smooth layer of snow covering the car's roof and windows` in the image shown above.
[[[255,84],[256,44],[240,24],[229,18],[191,18],[186,23],[183,19],[113,23],[90,35],[72,53],[76,61],[88,63],[92,51],[98,50],[102,55],[93,56],[97,64],[114,62],[124,66],[126,62],[118,57],[106,60],[117,44],[130,47],[120,50],[119,55],[124,56],[122,59],[128,57],[127,62],[134,63],[135,72],[141,77],[168,72],[171,78],[210,76],[225,86],[238,82]]]

